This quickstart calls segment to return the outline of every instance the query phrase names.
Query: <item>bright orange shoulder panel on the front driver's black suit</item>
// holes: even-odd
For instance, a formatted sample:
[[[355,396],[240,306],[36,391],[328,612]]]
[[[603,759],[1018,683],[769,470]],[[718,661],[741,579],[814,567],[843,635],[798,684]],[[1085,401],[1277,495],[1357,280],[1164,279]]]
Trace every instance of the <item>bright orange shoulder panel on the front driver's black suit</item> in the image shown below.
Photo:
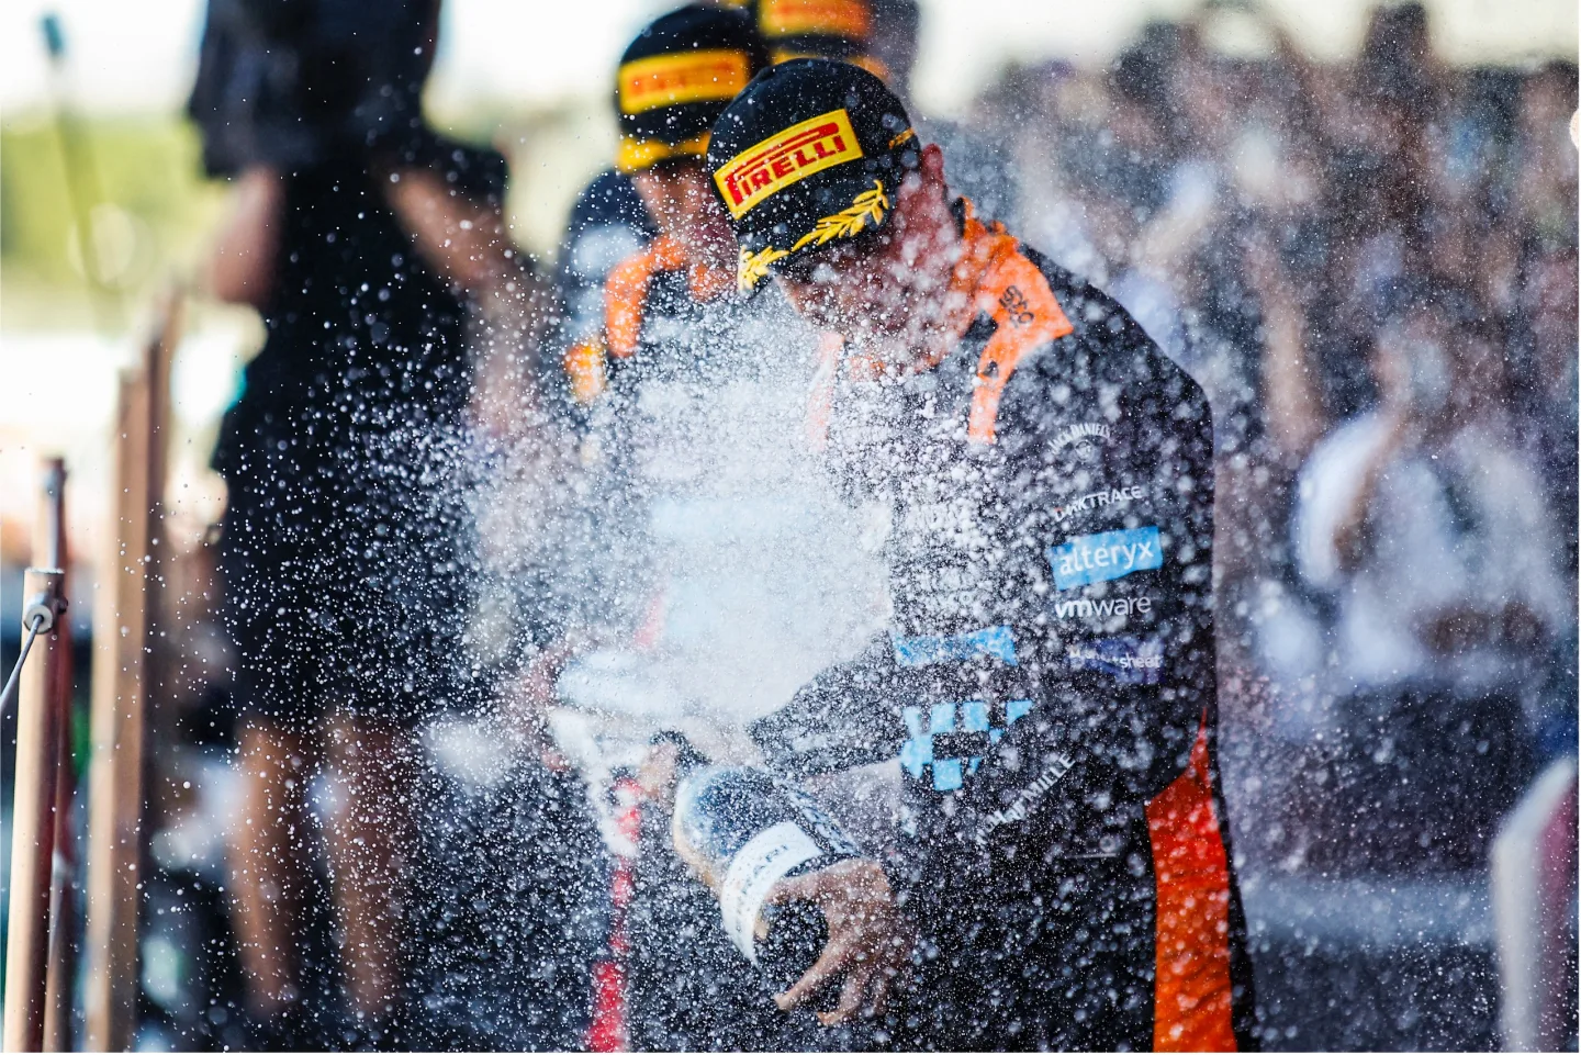
[[[1004,386],[1015,373],[1021,357],[1051,340],[1075,332],[1075,327],[1066,318],[1059,301],[1055,299],[1055,291],[1048,288],[1043,272],[1020,250],[1006,253],[990,269],[979,288],[977,301],[979,304],[991,302],[991,307],[987,304],[983,307],[998,323],[998,329],[988,338],[988,345],[977,361],[966,438],[971,443],[993,443],[999,421],[999,400],[1004,397]]]

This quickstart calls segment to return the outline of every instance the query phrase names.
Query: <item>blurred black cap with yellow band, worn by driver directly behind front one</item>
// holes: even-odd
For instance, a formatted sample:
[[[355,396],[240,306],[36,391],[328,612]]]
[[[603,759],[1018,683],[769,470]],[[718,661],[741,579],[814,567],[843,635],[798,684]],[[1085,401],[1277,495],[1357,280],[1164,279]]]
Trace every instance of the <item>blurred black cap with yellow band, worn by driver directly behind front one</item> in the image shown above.
[[[745,11],[691,3],[648,24],[620,57],[615,168],[636,172],[675,157],[702,157],[726,104],[768,65]]]

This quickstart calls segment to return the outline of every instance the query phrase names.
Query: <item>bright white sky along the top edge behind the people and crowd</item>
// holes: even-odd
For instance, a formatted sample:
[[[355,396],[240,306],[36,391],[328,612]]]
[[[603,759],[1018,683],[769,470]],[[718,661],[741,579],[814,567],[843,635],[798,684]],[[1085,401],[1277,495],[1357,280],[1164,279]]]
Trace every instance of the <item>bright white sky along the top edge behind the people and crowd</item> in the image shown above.
[[[376,2],[376,0],[372,0]],[[443,104],[474,98],[541,104],[596,96],[631,33],[666,0],[446,0],[433,85]],[[923,0],[919,103],[957,111],[1007,59],[1107,59],[1149,16],[1198,0]],[[1360,40],[1368,0],[1266,0],[1296,40],[1339,55]],[[1576,0],[1429,0],[1434,35],[1451,59],[1576,54]],[[43,98],[38,32],[60,13],[71,87],[93,111],[180,106],[202,28],[202,0],[0,2],[0,109]]]

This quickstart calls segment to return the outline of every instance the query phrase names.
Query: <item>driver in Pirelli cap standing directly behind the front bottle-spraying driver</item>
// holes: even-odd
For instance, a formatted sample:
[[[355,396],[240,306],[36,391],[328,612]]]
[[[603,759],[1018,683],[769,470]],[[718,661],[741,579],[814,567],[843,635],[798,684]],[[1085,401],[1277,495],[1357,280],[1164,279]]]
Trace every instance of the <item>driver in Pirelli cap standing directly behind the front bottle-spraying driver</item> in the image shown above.
[[[723,310],[734,288],[734,244],[711,215],[716,209],[702,183],[700,153],[713,115],[767,63],[767,47],[745,11],[691,3],[643,27],[617,66],[621,138],[615,174],[651,236],[623,242],[624,251],[604,261],[582,308],[574,291],[566,294],[572,299],[560,331],[564,351],[558,376],[579,433],[585,495],[571,539],[580,560],[568,565],[564,576],[572,607],[547,628],[550,641],[526,679],[547,693],[539,705],[549,704],[560,667],[590,645],[585,639],[640,634],[653,603],[651,547],[642,544],[647,512],[628,470],[656,452],[626,430],[640,378],[653,370],[683,370],[683,364],[677,356],[639,356],[637,350],[650,307],[664,315],[691,310],[696,324],[710,304]],[[591,228],[574,231],[574,239],[583,236],[591,236]],[[566,251],[582,250],[572,245]],[[596,307],[593,318],[585,313],[590,307]]]

